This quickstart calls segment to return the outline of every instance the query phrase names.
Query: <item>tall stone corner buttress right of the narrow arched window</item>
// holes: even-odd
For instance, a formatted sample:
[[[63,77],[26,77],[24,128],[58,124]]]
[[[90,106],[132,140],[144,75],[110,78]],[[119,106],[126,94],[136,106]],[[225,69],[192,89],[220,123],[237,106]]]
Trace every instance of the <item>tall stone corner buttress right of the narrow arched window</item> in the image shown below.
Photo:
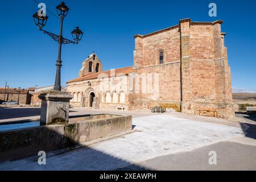
[[[192,114],[191,55],[190,55],[191,19],[180,20],[181,51],[181,112]]]

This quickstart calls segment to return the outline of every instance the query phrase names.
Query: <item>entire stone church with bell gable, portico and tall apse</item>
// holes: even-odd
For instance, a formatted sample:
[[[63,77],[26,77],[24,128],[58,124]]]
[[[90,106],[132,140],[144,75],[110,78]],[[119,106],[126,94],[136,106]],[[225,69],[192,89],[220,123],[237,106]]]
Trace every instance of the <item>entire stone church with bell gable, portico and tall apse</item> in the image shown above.
[[[71,105],[134,110],[168,103],[182,113],[217,110],[222,118],[234,117],[222,23],[181,19],[175,26],[137,34],[132,67],[102,71],[92,53],[79,77],[67,82]]]

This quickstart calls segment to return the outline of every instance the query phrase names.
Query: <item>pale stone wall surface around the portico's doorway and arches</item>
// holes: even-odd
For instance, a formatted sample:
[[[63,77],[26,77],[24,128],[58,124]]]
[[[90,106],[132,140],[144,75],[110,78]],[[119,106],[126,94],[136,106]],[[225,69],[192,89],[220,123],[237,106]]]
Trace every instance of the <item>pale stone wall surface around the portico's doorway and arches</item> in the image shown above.
[[[90,85],[88,84],[88,81],[90,82]],[[67,91],[73,95],[73,99],[71,100],[70,104],[71,106],[75,107],[89,107],[90,93],[92,92],[96,95],[96,101],[93,105],[93,107],[96,109],[107,109],[108,105],[112,108],[114,108],[114,105],[127,105],[128,90],[128,75],[95,78],[67,84]],[[120,100],[122,93],[125,93],[125,98]],[[106,100],[107,96],[110,97],[110,101]],[[116,101],[114,100],[115,96],[117,98]]]

